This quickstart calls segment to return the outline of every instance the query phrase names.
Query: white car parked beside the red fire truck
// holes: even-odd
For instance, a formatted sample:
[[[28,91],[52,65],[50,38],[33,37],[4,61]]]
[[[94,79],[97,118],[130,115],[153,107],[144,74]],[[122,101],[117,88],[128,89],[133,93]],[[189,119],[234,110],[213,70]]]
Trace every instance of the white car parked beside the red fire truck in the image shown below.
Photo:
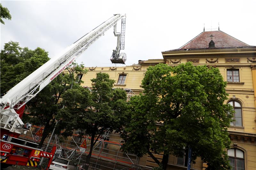
[[[50,168],[51,170],[76,170],[76,164],[73,160],[66,158],[57,158],[52,161]]]

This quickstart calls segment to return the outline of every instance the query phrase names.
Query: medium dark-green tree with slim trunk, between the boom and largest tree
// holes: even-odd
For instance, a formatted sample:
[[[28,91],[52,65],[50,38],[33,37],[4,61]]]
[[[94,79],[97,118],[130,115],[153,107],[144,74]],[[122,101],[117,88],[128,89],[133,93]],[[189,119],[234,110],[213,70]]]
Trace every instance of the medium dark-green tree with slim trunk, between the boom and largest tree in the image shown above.
[[[91,136],[86,164],[90,163],[93,146],[104,131],[120,132],[126,121],[126,92],[120,88],[113,90],[114,82],[108,74],[97,73],[97,78],[92,79],[92,92],[80,87],[68,90],[62,96],[65,108],[59,112],[59,118],[62,118],[59,125],[67,129],[80,129]],[[63,133],[71,134],[72,131],[68,130]],[[88,169],[88,166],[85,168]]]

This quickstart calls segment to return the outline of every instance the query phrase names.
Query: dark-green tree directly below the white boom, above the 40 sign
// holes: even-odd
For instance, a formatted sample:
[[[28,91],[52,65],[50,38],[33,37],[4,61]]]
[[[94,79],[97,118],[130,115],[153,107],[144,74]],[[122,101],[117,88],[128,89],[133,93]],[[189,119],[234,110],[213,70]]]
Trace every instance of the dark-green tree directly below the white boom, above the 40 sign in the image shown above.
[[[44,87],[44,89],[39,92],[31,102],[29,102],[28,108],[30,110],[30,114],[23,118],[24,121],[44,126],[43,135],[38,145],[40,148],[43,146],[45,138],[52,133],[56,121],[58,121],[58,119],[56,119],[56,115],[63,107],[62,103],[59,102],[62,94],[70,89],[71,86],[73,89],[79,88],[83,81],[77,82],[76,75],[78,73],[85,74],[87,72],[87,70],[84,70],[84,65],[78,65],[77,63],[72,63],[67,70],[68,71],[66,71],[66,73],[62,73],[49,85]],[[65,115],[59,116],[60,119],[65,117]],[[68,127],[57,124],[55,133],[60,134],[61,130],[64,128],[69,130]]]

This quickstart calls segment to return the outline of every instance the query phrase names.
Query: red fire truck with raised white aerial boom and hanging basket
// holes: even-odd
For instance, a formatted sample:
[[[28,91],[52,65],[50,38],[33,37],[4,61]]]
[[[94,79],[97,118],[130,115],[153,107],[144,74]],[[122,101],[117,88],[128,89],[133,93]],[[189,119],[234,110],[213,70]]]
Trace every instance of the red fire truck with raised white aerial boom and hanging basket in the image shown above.
[[[38,144],[18,138],[21,134],[26,134],[31,127],[30,123],[24,124],[21,121],[26,103],[112,26],[114,26],[114,35],[117,36],[117,47],[113,50],[110,60],[112,63],[124,64],[126,55],[120,54],[120,49],[124,49],[125,17],[125,15],[115,14],[68,46],[61,55],[44,63],[1,98],[1,168],[11,165],[37,166],[41,157],[50,159],[47,169],[49,168],[56,146],[52,148],[51,153],[44,152],[37,148]],[[121,33],[117,33],[116,24],[120,19],[122,20]]]

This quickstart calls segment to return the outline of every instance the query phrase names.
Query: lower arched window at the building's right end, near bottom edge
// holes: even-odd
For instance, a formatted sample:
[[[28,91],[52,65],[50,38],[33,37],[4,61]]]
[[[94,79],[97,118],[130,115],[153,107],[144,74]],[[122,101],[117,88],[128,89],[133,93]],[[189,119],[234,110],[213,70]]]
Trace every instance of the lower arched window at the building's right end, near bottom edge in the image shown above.
[[[244,152],[239,149],[228,149],[228,160],[232,170],[244,170]]]

